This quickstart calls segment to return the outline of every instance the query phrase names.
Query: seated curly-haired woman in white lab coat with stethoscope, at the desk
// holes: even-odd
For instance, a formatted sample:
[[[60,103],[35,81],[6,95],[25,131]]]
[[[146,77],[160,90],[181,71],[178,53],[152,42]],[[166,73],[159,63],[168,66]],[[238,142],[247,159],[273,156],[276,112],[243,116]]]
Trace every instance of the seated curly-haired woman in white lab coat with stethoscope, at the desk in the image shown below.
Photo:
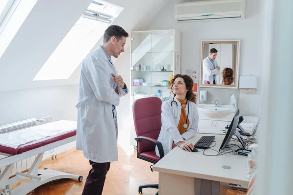
[[[164,156],[175,146],[191,152],[192,143],[186,140],[197,133],[198,110],[196,95],[193,94],[193,80],[187,75],[175,75],[169,84],[174,97],[162,104],[162,127],[158,141],[163,145]],[[156,155],[160,156],[156,147]]]

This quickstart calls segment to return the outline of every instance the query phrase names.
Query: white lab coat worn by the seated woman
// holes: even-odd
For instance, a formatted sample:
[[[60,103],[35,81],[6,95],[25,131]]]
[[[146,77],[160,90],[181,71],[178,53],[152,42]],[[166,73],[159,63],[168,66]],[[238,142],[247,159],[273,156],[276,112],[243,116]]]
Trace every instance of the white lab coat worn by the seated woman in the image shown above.
[[[160,131],[160,135],[158,137],[158,141],[160,141],[163,145],[164,156],[167,155],[168,152],[172,150],[172,143],[176,144],[178,141],[184,141],[183,137],[187,140],[197,133],[198,129],[198,110],[197,105],[188,101],[189,104],[189,126],[186,132],[180,135],[178,130],[179,119],[181,115],[181,103],[174,98],[174,101],[177,102],[178,106],[176,106],[175,102],[171,101],[173,98],[164,101],[162,104],[162,127]],[[186,115],[188,114],[188,105],[185,108]],[[158,147],[156,146],[156,155],[160,156]]]

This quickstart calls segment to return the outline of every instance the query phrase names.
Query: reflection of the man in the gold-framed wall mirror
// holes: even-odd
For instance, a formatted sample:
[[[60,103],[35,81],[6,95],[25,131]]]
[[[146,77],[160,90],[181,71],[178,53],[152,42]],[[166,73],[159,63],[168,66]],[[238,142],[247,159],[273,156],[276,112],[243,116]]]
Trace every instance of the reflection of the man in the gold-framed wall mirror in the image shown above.
[[[211,48],[209,56],[204,59],[202,84],[217,84],[216,76],[220,74],[220,66],[215,60],[217,53],[218,51],[215,48]]]

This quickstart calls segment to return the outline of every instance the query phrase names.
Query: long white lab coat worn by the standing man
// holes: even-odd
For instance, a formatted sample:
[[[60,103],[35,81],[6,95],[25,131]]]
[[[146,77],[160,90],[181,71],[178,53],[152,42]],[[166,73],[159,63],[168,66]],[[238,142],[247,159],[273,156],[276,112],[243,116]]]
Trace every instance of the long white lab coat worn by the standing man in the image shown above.
[[[93,162],[118,160],[116,106],[126,93],[118,86],[117,95],[114,91],[117,84],[111,73],[118,75],[101,46],[85,57],[80,77],[79,103],[76,105],[76,149],[83,150],[84,157]],[[115,120],[112,104],[115,105]]]

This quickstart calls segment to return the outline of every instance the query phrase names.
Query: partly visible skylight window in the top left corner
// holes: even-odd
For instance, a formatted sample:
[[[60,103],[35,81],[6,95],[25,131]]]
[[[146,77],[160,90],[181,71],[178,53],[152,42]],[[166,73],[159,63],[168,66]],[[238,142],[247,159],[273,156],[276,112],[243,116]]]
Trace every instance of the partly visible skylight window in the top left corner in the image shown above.
[[[38,0],[0,0],[0,57]]]

